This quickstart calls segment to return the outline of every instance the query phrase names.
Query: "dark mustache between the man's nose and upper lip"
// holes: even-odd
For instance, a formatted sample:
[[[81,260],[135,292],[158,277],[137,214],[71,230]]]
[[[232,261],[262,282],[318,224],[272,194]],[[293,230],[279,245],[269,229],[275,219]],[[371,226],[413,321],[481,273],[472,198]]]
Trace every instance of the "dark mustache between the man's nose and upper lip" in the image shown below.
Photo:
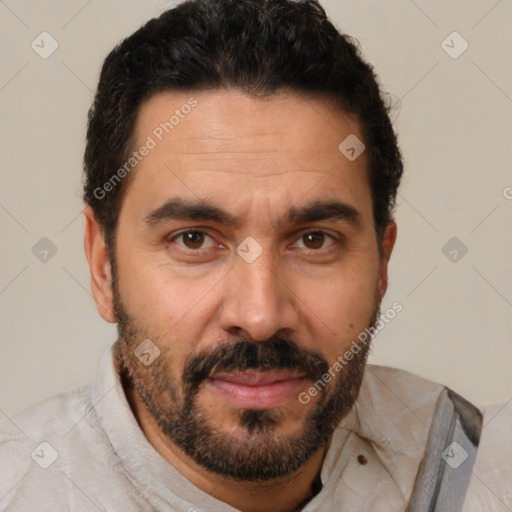
[[[303,349],[291,340],[273,337],[255,342],[242,338],[191,355],[185,362],[183,382],[195,389],[215,374],[245,370],[291,370],[316,381],[329,370],[329,365],[320,353]]]

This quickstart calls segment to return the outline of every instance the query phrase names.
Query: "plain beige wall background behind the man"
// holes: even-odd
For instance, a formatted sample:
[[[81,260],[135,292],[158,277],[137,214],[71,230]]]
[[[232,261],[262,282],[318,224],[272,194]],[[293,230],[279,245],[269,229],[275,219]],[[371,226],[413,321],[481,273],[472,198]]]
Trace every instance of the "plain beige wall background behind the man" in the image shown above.
[[[0,2],[0,410],[7,416],[93,380],[115,339],[115,327],[96,313],[82,248],[86,112],[108,51],[167,5]],[[372,362],[444,382],[480,406],[506,402],[512,398],[512,3],[323,5],[359,40],[392,95],[406,162],[383,304],[398,301],[404,309],[375,340]],[[47,59],[31,48],[43,31],[59,45]],[[457,59],[441,46],[454,31],[469,44]],[[452,53],[462,48],[457,37],[445,43]],[[32,252],[42,237],[57,249],[46,263]],[[463,257],[458,249],[456,262],[442,251],[452,237],[468,249]]]

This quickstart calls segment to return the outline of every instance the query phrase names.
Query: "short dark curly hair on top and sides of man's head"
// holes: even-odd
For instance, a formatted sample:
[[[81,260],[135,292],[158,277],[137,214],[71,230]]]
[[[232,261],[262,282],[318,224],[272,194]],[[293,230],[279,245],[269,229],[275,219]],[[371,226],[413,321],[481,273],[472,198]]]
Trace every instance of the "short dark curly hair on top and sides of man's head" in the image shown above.
[[[316,0],[187,0],[116,46],[89,111],[84,200],[110,249],[128,179],[98,194],[129,159],[141,103],[162,91],[293,91],[356,115],[368,159],[374,223],[392,219],[403,172],[390,106],[371,65]],[[341,141],[340,141],[341,142]]]

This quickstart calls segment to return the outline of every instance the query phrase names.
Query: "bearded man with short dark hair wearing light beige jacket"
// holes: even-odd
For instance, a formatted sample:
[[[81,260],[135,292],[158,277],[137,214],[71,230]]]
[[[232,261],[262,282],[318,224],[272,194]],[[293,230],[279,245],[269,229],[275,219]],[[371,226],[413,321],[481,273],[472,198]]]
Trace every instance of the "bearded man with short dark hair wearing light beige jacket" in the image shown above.
[[[2,429],[2,510],[507,507],[510,450],[489,483],[480,411],[366,367],[401,311],[380,304],[402,160],[318,3],[151,20],[104,63],[85,174],[92,291],[119,339],[97,383]]]

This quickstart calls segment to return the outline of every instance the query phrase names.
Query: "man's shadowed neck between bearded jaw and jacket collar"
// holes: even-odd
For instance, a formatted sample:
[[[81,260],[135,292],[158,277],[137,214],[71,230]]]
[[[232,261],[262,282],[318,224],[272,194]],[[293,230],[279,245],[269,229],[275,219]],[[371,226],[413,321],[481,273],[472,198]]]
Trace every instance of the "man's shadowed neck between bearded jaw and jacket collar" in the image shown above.
[[[151,445],[193,485],[242,512],[296,512],[315,491],[328,446],[322,446],[295,472],[267,482],[240,482],[217,475],[197,464],[169,440],[135,390],[123,381],[128,403]]]

